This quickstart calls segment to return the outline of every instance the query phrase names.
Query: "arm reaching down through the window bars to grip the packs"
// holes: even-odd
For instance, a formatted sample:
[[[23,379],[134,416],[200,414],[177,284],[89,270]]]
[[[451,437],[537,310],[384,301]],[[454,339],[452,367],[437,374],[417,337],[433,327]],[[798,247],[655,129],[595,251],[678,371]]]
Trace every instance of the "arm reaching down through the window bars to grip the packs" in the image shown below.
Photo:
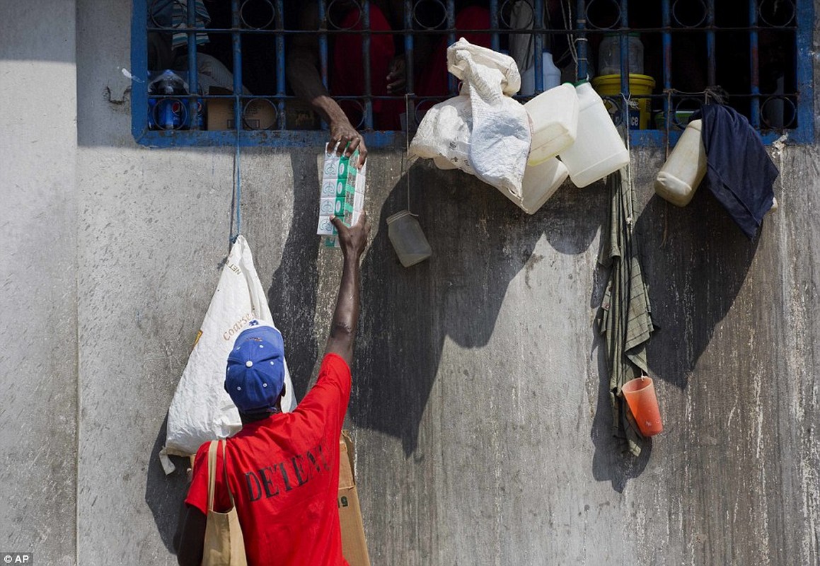
[[[308,2],[299,13],[300,30],[318,30],[319,14],[316,2]],[[330,126],[330,147],[338,144],[337,153],[350,157],[359,150],[357,166],[367,159],[367,146],[362,135],[350,124],[348,116],[330,96],[319,73],[319,40],[316,34],[296,34],[288,52],[286,66],[294,94],[309,103]]]

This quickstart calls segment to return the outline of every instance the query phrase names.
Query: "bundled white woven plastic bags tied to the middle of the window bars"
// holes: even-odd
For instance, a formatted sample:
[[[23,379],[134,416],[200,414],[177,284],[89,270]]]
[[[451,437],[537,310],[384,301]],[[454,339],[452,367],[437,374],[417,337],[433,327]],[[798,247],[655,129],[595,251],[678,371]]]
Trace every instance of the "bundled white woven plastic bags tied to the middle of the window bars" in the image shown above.
[[[521,87],[518,67],[512,57],[462,38],[447,49],[447,68],[464,81],[462,94],[430,108],[411,157],[436,164],[444,158],[521,201],[531,131],[526,110],[510,98]]]

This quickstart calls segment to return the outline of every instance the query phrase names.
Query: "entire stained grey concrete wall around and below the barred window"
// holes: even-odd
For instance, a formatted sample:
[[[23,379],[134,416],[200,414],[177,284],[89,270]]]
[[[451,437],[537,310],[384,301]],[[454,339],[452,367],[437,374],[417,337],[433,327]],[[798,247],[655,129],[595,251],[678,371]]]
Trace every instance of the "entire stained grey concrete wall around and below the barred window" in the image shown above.
[[[79,0],[75,20],[70,5],[0,18],[0,551],[175,564],[185,477],[157,452],[228,251],[233,152],[136,146],[130,7]],[[7,33],[34,21],[60,34]],[[74,21],[75,59],[60,39]],[[45,106],[34,123],[7,103],[24,91]],[[775,155],[781,208],[749,243],[707,191],[683,209],[655,197],[663,154],[633,151],[666,428],[633,459],[609,436],[594,326],[603,183],[567,184],[529,217],[417,164],[435,255],[404,269],[384,219],[406,207],[407,174],[401,153],[372,152],[348,426],[373,564],[817,564],[818,157]],[[301,396],[340,266],[313,235],[317,151],[247,149],[242,168],[243,232]]]

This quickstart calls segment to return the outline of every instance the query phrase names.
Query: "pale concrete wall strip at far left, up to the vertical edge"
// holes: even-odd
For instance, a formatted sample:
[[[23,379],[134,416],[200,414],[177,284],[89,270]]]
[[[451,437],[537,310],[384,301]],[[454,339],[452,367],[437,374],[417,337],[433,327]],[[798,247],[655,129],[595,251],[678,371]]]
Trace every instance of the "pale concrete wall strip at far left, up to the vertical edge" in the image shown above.
[[[0,553],[75,564],[75,7],[36,4],[0,2]]]

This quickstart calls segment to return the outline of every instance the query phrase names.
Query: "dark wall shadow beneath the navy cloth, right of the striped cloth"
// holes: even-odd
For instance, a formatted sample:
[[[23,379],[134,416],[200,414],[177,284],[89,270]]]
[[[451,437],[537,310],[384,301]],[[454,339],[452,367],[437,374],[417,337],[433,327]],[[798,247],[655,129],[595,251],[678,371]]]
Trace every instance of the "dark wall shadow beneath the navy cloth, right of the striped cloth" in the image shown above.
[[[649,369],[684,389],[743,286],[759,236],[749,241],[705,186],[686,208],[654,195],[635,231],[660,326],[649,341]]]

